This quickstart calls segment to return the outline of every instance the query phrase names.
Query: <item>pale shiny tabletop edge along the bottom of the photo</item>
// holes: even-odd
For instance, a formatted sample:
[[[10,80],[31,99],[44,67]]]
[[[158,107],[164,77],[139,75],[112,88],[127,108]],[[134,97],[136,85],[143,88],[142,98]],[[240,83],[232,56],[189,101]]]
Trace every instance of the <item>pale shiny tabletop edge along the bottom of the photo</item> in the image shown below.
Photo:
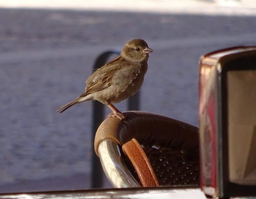
[[[175,189],[174,189],[175,188]],[[0,199],[206,199],[200,189],[194,187],[154,187],[130,189],[100,189],[84,191],[49,191],[38,193],[2,194]]]

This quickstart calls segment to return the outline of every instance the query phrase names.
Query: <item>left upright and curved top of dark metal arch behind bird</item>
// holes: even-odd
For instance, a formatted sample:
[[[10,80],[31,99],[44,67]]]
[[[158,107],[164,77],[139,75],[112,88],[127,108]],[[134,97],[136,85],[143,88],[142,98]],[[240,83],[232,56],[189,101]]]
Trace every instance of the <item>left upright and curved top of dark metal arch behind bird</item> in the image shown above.
[[[116,51],[107,51],[102,53],[95,61],[93,66],[93,72],[102,67],[112,54],[120,54]],[[101,188],[103,187],[103,170],[100,164],[100,159],[94,153],[94,135],[103,121],[104,117],[104,105],[98,101],[93,101],[93,110],[92,110],[92,167],[91,167],[91,188]]]

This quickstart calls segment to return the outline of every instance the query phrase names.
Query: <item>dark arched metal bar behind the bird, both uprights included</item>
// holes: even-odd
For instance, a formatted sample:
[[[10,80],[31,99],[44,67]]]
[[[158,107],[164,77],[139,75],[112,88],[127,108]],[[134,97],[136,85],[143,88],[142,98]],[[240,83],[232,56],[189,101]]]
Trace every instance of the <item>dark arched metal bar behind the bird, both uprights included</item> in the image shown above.
[[[104,66],[110,56],[119,55],[120,51],[109,50],[103,52],[96,58],[93,66],[93,72]],[[134,96],[128,99],[128,110],[138,111],[140,109],[140,93],[137,92]],[[92,113],[92,143],[94,143],[94,135],[100,125],[100,123],[104,120],[104,105],[98,101],[93,102],[93,113]],[[103,172],[102,167],[100,165],[100,161],[97,155],[94,153],[94,145],[92,145],[92,167],[91,167],[91,187],[92,188],[101,188],[103,187]]]

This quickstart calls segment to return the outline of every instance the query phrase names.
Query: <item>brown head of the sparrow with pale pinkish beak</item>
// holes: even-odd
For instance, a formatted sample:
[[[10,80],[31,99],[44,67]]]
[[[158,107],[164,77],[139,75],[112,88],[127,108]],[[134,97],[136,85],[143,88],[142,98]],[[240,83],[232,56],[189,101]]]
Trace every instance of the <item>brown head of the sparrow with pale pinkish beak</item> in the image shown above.
[[[148,60],[148,54],[153,52],[142,39],[133,39],[124,45],[121,56],[131,62],[144,62]]]

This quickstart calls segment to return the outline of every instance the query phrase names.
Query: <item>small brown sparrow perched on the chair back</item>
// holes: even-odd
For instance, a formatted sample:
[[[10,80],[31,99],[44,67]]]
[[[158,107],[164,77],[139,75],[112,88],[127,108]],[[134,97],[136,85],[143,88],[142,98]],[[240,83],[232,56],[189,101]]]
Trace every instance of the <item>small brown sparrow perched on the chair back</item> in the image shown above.
[[[113,111],[109,117],[124,119],[124,114],[112,103],[118,103],[140,89],[148,69],[148,54],[151,52],[153,50],[144,40],[131,40],[124,45],[120,56],[96,70],[86,80],[87,86],[82,95],[60,107],[57,112],[62,113],[83,101],[97,100]]]

